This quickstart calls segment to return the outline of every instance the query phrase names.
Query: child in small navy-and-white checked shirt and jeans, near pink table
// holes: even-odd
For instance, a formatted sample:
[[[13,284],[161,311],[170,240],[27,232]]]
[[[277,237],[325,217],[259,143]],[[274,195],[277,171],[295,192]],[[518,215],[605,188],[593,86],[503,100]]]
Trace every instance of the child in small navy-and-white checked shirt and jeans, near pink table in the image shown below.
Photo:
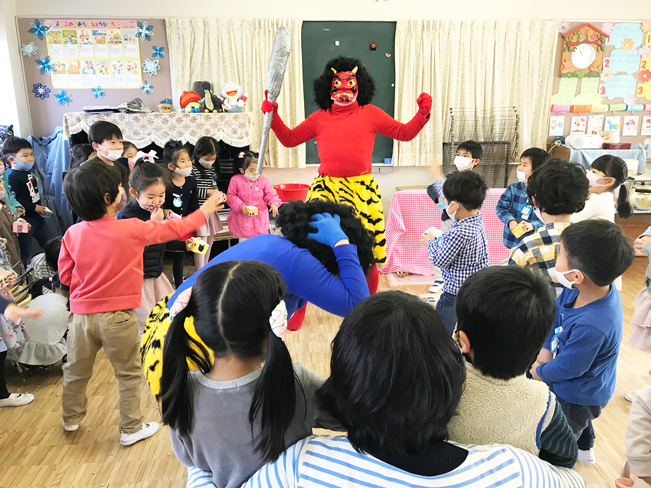
[[[474,171],[449,175],[443,184],[443,196],[452,225],[443,233],[430,228],[421,239],[432,263],[443,272],[445,283],[436,311],[450,335],[456,325],[456,293],[466,278],[488,266],[488,242],[479,212],[487,189],[482,177]]]

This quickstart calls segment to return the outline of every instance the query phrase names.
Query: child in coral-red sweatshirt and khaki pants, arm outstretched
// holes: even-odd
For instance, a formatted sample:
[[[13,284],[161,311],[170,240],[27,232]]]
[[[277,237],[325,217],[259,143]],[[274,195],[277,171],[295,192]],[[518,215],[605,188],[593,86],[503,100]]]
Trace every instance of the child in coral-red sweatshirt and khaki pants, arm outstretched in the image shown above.
[[[120,384],[120,444],[130,446],[158,431],[143,423],[140,409],[142,372],[138,324],[143,250],[150,244],[178,239],[201,227],[217,209],[215,194],[186,218],[156,222],[117,220],[120,180],[107,165],[85,164],[69,171],[64,192],[83,220],[61,240],[59,276],[70,287],[73,320],[68,332],[68,362],[63,366],[62,426],[76,431],[86,414],[86,386],[97,352],[104,347]]]

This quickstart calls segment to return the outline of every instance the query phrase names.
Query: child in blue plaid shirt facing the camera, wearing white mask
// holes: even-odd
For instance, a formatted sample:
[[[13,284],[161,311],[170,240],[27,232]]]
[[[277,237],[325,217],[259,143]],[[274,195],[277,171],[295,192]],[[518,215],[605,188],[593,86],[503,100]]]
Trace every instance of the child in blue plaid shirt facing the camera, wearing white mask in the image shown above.
[[[518,246],[523,237],[529,236],[538,231],[545,225],[542,220],[536,216],[533,206],[529,203],[527,197],[527,180],[533,173],[534,169],[542,165],[549,159],[549,154],[540,147],[530,147],[520,156],[520,164],[516,169],[518,173],[518,182],[508,185],[505,192],[499,197],[495,212],[497,218],[504,222],[504,245],[509,248]],[[527,233],[516,237],[513,233],[520,222],[527,221]]]

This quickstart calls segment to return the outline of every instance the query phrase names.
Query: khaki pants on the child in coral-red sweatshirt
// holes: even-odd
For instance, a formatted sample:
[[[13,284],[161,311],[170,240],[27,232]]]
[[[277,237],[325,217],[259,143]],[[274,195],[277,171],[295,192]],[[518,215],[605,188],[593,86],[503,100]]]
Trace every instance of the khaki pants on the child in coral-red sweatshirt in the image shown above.
[[[133,434],[143,427],[140,389],[138,317],[133,310],[74,314],[68,332],[68,362],[63,366],[63,421],[77,425],[86,415],[86,386],[95,356],[102,347],[120,388],[120,431]]]

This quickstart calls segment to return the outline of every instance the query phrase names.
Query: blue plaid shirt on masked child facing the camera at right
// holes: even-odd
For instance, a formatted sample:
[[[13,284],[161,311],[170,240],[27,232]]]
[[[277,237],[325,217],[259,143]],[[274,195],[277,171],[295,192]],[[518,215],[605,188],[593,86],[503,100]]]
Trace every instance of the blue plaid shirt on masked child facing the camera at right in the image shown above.
[[[504,222],[504,236],[502,240],[504,245],[509,249],[515,248],[523,238],[533,235],[533,233],[538,232],[540,227],[545,225],[534,213],[533,206],[529,204],[529,198],[527,197],[527,187],[521,182],[508,185],[497,201],[495,214],[497,214],[499,220]],[[524,218],[525,216],[527,218]],[[533,231],[523,234],[520,237],[515,237],[508,228],[508,223],[512,220],[518,223],[523,220],[531,222],[533,224]]]

